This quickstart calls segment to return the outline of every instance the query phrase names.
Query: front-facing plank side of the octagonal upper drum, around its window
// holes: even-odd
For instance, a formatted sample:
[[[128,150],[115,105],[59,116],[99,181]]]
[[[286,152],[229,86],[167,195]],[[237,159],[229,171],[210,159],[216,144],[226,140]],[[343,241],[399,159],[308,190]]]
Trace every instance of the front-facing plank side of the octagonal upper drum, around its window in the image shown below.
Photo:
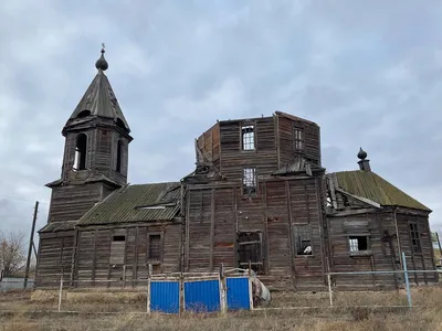
[[[241,150],[241,126],[255,125],[255,150]],[[274,118],[264,117],[250,121],[222,121],[221,173],[230,181],[241,183],[244,167],[255,167],[257,177],[277,170]]]

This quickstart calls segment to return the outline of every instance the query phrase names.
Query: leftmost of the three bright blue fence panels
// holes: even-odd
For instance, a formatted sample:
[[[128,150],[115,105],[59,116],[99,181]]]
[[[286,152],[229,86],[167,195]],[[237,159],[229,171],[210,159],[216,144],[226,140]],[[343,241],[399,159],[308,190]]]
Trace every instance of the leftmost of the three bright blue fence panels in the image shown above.
[[[152,281],[150,284],[150,310],[178,313],[179,282]]]

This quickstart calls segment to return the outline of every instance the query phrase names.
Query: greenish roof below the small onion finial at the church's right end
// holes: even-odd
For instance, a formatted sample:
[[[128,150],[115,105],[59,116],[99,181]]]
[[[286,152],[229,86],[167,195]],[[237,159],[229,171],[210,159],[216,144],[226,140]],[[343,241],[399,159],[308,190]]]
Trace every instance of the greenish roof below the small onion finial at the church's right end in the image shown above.
[[[372,171],[335,172],[340,189],[369,199],[380,205],[398,205],[415,210],[431,210]]]

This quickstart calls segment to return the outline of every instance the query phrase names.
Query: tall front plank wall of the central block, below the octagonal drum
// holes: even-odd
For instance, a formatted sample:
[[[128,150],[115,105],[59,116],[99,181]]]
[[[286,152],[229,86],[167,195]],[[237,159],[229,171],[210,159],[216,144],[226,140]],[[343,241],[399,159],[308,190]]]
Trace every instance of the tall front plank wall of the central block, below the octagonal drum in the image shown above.
[[[260,275],[272,288],[324,286],[319,178],[274,180],[260,183],[256,197],[241,189],[212,185],[187,190],[186,271],[211,271],[219,266],[238,267],[236,232],[263,234],[264,269]],[[320,189],[319,189],[320,190]],[[291,225],[311,224],[313,256],[294,256]]]

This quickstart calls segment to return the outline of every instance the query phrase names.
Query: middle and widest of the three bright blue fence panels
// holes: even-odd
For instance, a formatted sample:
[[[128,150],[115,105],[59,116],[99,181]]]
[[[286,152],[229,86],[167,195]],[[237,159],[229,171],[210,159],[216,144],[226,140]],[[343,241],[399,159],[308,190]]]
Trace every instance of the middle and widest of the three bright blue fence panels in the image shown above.
[[[220,310],[219,280],[185,282],[185,307],[199,312]]]

